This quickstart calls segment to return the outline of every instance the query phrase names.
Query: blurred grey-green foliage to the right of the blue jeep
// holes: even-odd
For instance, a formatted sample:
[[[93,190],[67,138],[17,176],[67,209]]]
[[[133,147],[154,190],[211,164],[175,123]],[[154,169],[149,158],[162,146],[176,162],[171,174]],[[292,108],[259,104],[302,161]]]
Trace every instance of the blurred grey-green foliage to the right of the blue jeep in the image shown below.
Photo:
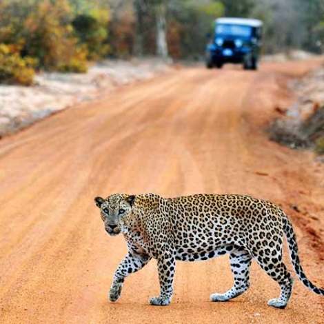
[[[264,22],[266,52],[282,52],[290,48],[323,51],[323,0],[258,0],[251,15]]]

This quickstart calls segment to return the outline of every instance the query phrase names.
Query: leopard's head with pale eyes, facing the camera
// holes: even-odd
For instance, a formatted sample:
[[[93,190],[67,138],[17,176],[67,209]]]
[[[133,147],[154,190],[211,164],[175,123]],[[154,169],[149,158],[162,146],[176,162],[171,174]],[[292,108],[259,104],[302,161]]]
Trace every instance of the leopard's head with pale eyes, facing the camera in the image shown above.
[[[125,220],[132,214],[134,200],[135,196],[128,196],[127,194],[112,194],[106,199],[94,198],[108,234],[117,236],[123,230]]]

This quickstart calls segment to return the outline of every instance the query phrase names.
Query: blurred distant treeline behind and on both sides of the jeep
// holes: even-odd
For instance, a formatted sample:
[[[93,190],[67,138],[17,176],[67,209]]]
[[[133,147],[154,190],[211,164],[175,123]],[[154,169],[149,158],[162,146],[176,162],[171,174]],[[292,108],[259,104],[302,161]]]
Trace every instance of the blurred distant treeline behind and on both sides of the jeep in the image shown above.
[[[221,16],[261,19],[263,52],[324,50],[324,0],[114,0],[110,5],[111,36],[114,32],[118,36],[117,42],[111,39],[114,54],[120,52],[120,46],[129,54],[165,54],[161,41],[164,21],[170,57],[201,57],[206,35],[213,32],[214,19]],[[128,32],[120,38],[122,19],[123,30],[128,26]]]

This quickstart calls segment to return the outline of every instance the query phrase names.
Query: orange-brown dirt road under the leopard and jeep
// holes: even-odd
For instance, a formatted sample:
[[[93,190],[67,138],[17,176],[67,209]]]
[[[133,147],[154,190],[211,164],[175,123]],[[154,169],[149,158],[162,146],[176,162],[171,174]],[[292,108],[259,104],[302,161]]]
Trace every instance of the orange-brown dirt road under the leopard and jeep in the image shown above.
[[[122,236],[105,234],[92,200],[231,192],[279,203],[296,228],[306,274],[323,287],[324,165],[263,131],[276,106],[294,101],[290,77],[317,64],[178,70],[2,139],[0,323],[323,323],[324,298],[297,280],[285,310],[268,307],[279,286],[255,263],[248,292],[210,302],[232,285],[227,256],[177,263],[168,307],[148,305],[159,292],[155,261],[110,303],[126,247]]]

